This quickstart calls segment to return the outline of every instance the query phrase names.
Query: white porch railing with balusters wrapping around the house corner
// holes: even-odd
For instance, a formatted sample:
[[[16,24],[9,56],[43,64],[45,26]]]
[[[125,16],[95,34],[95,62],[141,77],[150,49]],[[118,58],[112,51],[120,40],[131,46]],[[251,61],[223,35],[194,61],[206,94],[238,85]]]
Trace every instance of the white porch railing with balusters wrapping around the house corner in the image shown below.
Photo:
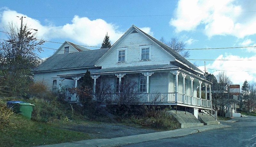
[[[172,92],[172,93],[158,93],[158,94],[148,94],[148,100],[145,102],[147,103],[179,103],[179,104],[188,104],[188,105],[195,105],[195,106],[202,106],[211,108],[211,101],[192,97],[185,94]]]

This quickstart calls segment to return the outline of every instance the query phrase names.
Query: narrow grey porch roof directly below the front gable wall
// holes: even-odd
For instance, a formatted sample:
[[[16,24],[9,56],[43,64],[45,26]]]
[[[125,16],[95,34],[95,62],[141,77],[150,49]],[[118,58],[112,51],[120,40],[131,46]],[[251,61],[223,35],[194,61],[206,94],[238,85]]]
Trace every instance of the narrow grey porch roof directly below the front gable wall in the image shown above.
[[[178,68],[173,65],[149,65],[149,66],[131,66],[131,67],[116,67],[116,68],[103,68],[92,71],[91,74],[101,74],[110,72],[132,72],[141,70],[157,70],[157,69],[171,69]]]

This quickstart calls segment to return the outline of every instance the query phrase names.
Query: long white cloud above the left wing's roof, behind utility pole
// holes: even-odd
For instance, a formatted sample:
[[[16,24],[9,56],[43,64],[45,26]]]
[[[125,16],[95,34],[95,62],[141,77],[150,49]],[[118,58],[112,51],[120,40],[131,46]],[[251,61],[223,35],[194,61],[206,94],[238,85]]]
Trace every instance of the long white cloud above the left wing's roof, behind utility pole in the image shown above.
[[[100,45],[108,32],[111,43],[113,44],[124,33],[118,31],[118,26],[107,23],[103,19],[90,20],[86,17],[74,16],[71,23],[63,26],[42,25],[36,19],[29,18],[24,14],[6,8],[3,12],[0,12],[1,26],[7,27],[8,23],[13,21],[19,28],[20,18],[16,16],[26,17],[23,19],[23,24],[27,24],[29,28],[38,29],[38,36],[44,37],[45,40],[63,38],[74,40],[76,43],[83,45]]]

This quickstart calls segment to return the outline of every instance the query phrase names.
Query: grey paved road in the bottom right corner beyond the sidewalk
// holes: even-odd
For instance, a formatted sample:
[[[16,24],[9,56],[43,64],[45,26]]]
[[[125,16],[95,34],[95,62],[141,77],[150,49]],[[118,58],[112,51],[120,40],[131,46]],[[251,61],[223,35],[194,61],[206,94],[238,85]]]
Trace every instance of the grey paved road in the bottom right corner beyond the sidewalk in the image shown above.
[[[236,122],[220,122],[230,125],[178,138],[167,138],[143,143],[126,145],[125,147],[156,146],[256,146],[256,117],[239,118]]]

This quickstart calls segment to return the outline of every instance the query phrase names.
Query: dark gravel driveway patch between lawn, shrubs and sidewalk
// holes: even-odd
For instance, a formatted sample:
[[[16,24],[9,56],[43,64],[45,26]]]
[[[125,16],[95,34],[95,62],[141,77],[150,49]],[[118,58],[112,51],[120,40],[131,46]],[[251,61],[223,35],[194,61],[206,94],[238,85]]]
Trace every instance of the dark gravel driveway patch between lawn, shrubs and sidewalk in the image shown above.
[[[131,126],[121,124],[86,124],[86,125],[74,125],[70,124],[63,129],[84,132],[91,135],[93,138],[116,138],[123,136],[147,134],[153,132],[159,132],[153,129],[135,128]]]

